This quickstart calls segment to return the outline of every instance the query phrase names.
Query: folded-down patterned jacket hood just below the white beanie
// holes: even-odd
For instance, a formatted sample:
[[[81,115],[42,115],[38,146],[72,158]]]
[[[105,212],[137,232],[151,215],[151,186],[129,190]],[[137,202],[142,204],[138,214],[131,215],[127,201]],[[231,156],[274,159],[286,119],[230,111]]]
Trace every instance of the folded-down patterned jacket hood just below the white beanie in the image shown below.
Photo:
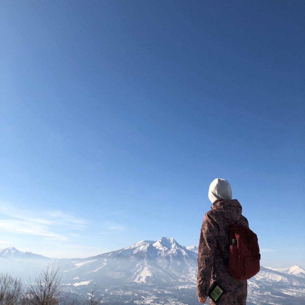
[[[239,220],[242,215],[242,206],[237,199],[218,199],[214,201],[211,208],[212,210],[216,210],[217,212],[221,213],[222,216],[228,218],[231,221]]]

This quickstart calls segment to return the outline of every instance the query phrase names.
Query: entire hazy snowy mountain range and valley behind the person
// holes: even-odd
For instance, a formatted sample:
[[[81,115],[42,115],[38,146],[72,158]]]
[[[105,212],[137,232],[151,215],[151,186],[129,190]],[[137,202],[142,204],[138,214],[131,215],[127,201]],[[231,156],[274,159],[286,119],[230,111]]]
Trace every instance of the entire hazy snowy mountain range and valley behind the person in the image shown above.
[[[61,259],[62,284],[86,293],[97,284],[103,302],[197,304],[198,246],[182,246],[173,238],[141,240],[123,249],[84,259]],[[0,268],[24,280],[38,275],[48,258],[9,247],[0,249]],[[305,304],[305,270],[260,267],[248,280],[247,304]]]

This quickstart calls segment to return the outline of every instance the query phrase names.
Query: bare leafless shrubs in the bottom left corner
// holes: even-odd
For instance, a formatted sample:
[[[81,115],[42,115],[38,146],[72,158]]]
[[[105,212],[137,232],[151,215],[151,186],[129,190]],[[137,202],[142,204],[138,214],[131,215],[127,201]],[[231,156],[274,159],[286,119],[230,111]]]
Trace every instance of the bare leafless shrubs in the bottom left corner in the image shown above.
[[[42,270],[33,282],[29,278],[23,284],[21,278],[14,278],[8,273],[0,273],[0,305],[98,305],[104,296],[96,291],[96,285],[86,297],[79,293],[70,300],[70,292],[64,291],[60,284],[61,275],[55,263]]]

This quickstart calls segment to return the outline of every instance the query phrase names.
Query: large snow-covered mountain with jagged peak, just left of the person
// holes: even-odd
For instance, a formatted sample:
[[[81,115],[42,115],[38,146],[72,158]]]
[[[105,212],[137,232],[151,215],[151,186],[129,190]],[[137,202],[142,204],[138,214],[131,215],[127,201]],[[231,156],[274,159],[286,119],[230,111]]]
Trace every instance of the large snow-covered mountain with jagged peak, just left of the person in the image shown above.
[[[197,272],[197,253],[166,237],[141,240],[117,251],[72,262],[71,269],[63,266],[63,278],[90,278],[112,285],[126,282],[193,285]]]

